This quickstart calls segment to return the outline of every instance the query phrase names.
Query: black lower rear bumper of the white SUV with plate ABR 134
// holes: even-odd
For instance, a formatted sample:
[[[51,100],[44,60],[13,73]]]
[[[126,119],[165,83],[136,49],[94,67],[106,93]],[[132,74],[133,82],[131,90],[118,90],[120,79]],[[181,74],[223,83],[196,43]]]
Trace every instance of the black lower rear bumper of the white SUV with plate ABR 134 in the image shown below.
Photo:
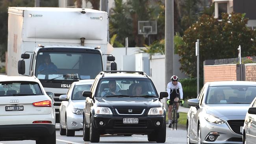
[[[52,135],[54,131],[53,124],[1,125],[0,140],[36,140]]]

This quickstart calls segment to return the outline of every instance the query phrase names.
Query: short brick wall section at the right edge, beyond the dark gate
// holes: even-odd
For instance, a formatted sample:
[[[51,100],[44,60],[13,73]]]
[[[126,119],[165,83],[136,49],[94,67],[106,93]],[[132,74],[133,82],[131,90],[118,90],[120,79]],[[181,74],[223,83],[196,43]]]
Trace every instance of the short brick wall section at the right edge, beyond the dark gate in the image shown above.
[[[256,81],[256,63],[245,64],[245,80]]]

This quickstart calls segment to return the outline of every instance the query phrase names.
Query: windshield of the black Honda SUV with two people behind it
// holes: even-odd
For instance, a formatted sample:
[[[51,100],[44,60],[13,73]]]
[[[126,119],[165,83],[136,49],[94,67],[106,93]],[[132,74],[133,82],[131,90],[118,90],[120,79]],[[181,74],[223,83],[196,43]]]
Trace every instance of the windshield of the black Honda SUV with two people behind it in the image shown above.
[[[98,85],[96,97],[145,97],[157,98],[158,94],[150,79],[104,78]]]

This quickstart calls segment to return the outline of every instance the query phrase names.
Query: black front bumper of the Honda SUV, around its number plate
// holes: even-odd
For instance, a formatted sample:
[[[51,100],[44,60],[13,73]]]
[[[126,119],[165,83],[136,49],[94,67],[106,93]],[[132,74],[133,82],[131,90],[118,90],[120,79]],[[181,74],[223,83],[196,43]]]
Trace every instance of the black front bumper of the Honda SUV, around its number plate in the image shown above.
[[[123,124],[123,118],[139,118],[138,124]],[[100,121],[104,122],[100,126]],[[156,122],[160,122],[157,126]],[[166,128],[165,115],[157,116],[93,116],[93,126],[100,134],[150,134]]]

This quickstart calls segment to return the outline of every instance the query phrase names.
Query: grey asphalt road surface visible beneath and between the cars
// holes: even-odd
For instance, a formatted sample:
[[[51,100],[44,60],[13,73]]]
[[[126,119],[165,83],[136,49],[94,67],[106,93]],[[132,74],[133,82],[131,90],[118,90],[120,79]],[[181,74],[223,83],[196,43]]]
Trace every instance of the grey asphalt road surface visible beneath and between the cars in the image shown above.
[[[57,127],[57,126],[56,126]],[[186,129],[177,129],[172,131],[167,127],[167,144],[186,144]],[[91,142],[83,141],[83,131],[76,131],[75,137],[67,137],[59,135],[59,131],[56,131],[56,144],[88,144]],[[102,135],[98,144],[148,144],[156,142],[148,142],[147,135],[132,135],[131,137],[124,137],[122,135]],[[0,144],[35,144],[34,140],[23,141],[0,141]]]

